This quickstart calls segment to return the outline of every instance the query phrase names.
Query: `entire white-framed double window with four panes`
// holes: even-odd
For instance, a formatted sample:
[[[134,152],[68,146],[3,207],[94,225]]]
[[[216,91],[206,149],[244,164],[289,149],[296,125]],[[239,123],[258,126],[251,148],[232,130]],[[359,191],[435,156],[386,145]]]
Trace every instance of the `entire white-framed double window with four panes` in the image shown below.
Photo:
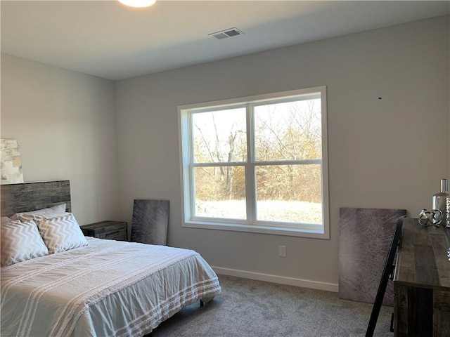
[[[179,107],[184,227],[329,238],[326,87]]]

